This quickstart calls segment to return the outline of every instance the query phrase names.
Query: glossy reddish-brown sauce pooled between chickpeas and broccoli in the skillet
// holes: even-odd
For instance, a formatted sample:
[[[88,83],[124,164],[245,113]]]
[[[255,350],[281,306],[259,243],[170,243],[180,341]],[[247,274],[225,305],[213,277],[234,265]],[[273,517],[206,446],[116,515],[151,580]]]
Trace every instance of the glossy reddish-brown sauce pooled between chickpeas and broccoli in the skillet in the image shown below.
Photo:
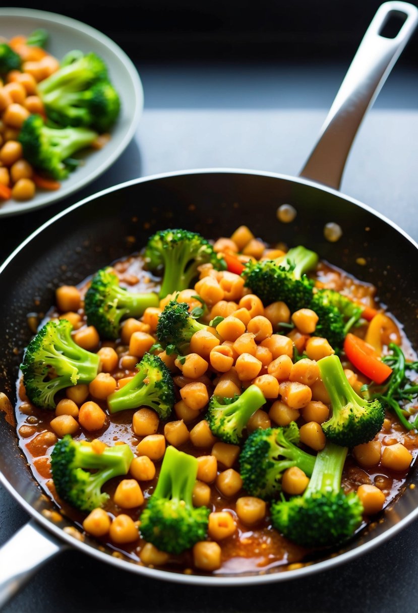
[[[143,261],[139,255],[128,257],[126,260],[115,264],[115,269],[118,271],[121,277],[121,282],[129,286],[132,291],[143,291],[145,287],[153,287],[158,291],[158,279],[149,275],[143,270]],[[321,262],[317,271],[317,280],[324,287],[331,287],[337,289],[343,293],[347,293],[356,300],[365,303],[368,306],[375,306],[374,302],[374,287],[370,284],[360,283],[352,276],[344,273],[338,268],[332,267],[327,262]],[[80,286],[80,290],[85,291],[88,284],[88,280]],[[82,312],[82,311],[80,311]],[[47,318],[56,316],[58,313],[55,308],[52,308],[48,313]],[[83,314],[83,313],[82,313]],[[403,348],[410,351],[408,340],[402,337]],[[127,348],[121,346],[120,341],[116,343],[105,343],[106,345],[115,346],[118,348],[120,356],[127,353]],[[112,373],[116,379],[123,378],[127,375],[133,375],[132,371],[122,370],[118,368]],[[21,398],[25,398],[24,390],[21,389],[21,384],[18,382],[18,389],[20,390]],[[63,394],[64,397],[64,394]],[[180,396],[178,397],[180,399]],[[56,398],[58,401],[58,397]],[[106,411],[105,401],[94,399],[95,402],[102,406]],[[80,427],[74,438],[92,440],[93,438],[99,438],[109,445],[115,444],[116,441],[124,441],[128,443],[132,451],[135,452],[135,447],[140,441],[140,437],[135,436],[132,431],[132,415],[137,409],[129,409],[121,411],[121,413],[110,416],[107,413],[107,420],[104,428],[95,432],[87,432]],[[55,417],[54,411],[47,411],[36,408],[27,402],[27,400],[19,400],[15,411],[17,417],[17,432],[19,436],[20,446],[28,459],[29,466],[31,468],[34,477],[39,482],[41,487],[48,493],[50,497],[55,500],[55,503],[61,509],[61,512],[74,520],[75,524],[82,530],[82,522],[85,514],[82,514],[69,505],[59,500],[51,481],[50,473],[50,453],[57,438],[52,428],[50,427],[50,421]],[[204,412],[203,412],[204,414]],[[199,414],[196,421],[203,418],[203,414]],[[171,419],[177,419],[173,412]],[[393,414],[387,413],[386,430],[380,432],[376,438],[381,441],[382,447],[386,444],[393,444],[393,442],[403,443],[411,452],[414,460],[418,453],[418,435],[415,432],[408,432],[396,421]],[[196,422],[188,423],[188,429],[195,425]],[[301,423],[303,419],[301,418]],[[272,424],[275,425],[275,424]],[[159,433],[164,430],[164,422],[160,421]],[[186,443],[179,447],[181,451],[188,452],[193,455],[208,455],[211,449],[201,449],[194,447],[191,443]],[[150,497],[153,489],[158,480],[158,471],[160,462],[156,462],[157,473],[153,481],[141,482],[141,488],[145,501]],[[234,468],[239,470],[238,466]],[[225,470],[225,467],[219,464],[218,473]],[[362,483],[378,485],[382,491],[386,494],[386,506],[389,506],[393,500],[402,492],[405,488],[407,471],[400,471],[397,473],[391,473],[387,469],[382,468],[380,465],[373,466],[372,468],[364,468],[357,465],[354,457],[348,455],[346,465],[343,473],[343,487],[346,491],[355,490]],[[104,490],[110,493],[110,501],[106,507],[106,511],[110,516],[116,516],[120,512],[129,514],[132,519],[137,520],[142,509],[133,509],[132,511],[118,508],[112,499],[112,493],[118,483],[118,479],[113,479],[104,487]],[[211,511],[229,510],[235,517],[237,522],[237,530],[235,534],[223,541],[220,541],[222,549],[222,565],[218,571],[214,574],[240,574],[240,573],[266,573],[273,568],[283,566],[287,568],[288,565],[303,563],[305,560],[311,559],[309,557],[312,552],[309,552],[303,547],[290,543],[281,536],[278,531],[274,530],[270,524],[270,518],[268,515],[265,519],[258,524],[255,528],[248,528],[240,522],[235,512],[235,500],[240,495],[243,495],[243,491],[238,492],[238,495],[234,498],[224,497],[215,485],[211,485]],[[365,517],[366,525],[369,518]],[[102,542],[107,544],[108,547],[120,552],[135,563],[141,563],[139,554],[140,549],[143,546],[141,539],[134,544],[117,545],[107,539],[102,539]],[[178,572],[192,572],[199,573],[193,568],[193,562],[191,552],[185,552],[178,556],[170,557],[169,563],[164,566],[165,569],[170,569]]]

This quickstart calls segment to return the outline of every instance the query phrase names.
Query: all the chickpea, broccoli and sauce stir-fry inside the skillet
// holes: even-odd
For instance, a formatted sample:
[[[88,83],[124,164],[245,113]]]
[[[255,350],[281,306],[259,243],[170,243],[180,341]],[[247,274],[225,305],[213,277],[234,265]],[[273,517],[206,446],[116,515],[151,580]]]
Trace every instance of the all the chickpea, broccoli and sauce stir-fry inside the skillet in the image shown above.
[[[56,287],[34,332],[21,447],[78,538],[115,555],[189,574],[299,568],[408,487],[414,351],[373,286],[304,245],[158,230]]]

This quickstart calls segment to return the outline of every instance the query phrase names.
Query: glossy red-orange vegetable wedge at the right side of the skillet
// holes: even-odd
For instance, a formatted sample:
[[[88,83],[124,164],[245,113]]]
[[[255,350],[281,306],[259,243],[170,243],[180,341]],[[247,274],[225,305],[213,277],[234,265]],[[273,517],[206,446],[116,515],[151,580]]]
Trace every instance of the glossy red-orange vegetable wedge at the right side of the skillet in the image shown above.
[[[351,332],[344,340],[344,351],[351,364],[375,383],[381,384],[392,375],[392,368],[379,359],[378,352]]]

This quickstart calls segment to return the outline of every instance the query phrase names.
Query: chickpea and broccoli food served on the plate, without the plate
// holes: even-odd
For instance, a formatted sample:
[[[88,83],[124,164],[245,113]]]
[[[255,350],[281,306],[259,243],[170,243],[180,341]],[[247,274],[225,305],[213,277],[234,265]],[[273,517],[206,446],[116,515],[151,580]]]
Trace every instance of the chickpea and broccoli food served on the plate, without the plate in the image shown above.
[[[48,32],[0,38],[0,205],[56,190],[99,149],[120,115],[119,93],[96,53],[48,52]]]

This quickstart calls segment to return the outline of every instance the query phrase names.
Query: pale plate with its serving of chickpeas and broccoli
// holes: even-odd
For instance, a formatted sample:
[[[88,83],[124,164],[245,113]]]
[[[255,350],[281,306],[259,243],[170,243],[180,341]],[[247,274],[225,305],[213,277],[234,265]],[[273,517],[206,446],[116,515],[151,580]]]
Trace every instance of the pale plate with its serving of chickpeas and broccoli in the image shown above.
[[[134,137],[143,88],[126,53],[85,23],[21,8],[0,18],[0,216],[9,216],[105,172]]]

